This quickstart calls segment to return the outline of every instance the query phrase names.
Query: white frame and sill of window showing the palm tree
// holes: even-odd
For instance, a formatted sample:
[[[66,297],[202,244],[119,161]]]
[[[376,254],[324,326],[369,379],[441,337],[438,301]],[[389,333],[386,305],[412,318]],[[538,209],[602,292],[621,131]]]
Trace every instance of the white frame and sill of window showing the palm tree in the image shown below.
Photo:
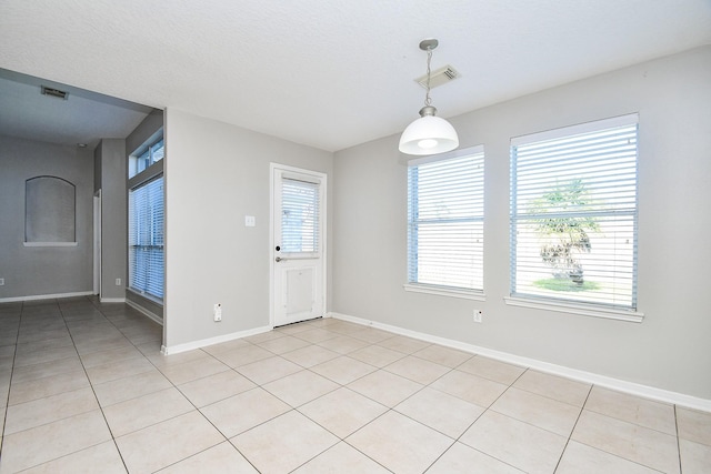
[[[633,242],[632,242],[632,276],[630,279],[631,284],[631,293],[630,293],[630,304],[623,305],[619,303],[608,303],[608,302],[594,302],[594,301],[581,301],[574,299],[564,299],[564,297],[552,297],[547,296],[545,294],[534,294],[527,292],[517,292],[517,225],[519,222],[525,222],[525,219],[531,219],[530,216],[525,216],[525,214],[519,215],[517,214],[517,199],[519,194],[518,188],[518,174],[517,174],[517,160],[515,160],[515,149],[520,145],[529,145],[529,144],[538,144],[549,140],[564,140],[570,139],[575,135],[594,133],[594,132],[603,132],[605,130],[611,130],[615,128],[622,127],[637,127],[637,142],[635,142],[635,157],[634,157],[634,208],[633,212],[625,211],[625,213],[621,213],[621,215],[629,215],[631,219],[631,229],[633,232]],[[577,125],[559,128],[554,130],[549,130],[544,132],[517,137],[511,139],[510,144],[510,222],[509,222],[509,232],[510,232],[510,294],[504,297],[507,304],[514,306],[524,306],[524,307],[533,307],[541,309],[548,311],[558,311],[558,312],[567,312],[573,314],[581,314],[588,316],[595,317],[609,317],[615,320],[631,321],[631,322],[641,322],[644,314],[639,311],[639,305],[637,301],[637,284],[638,284],[638,244],[637,240],[639,236],[638,222],[639,222],[639,114],[625,114],[621,117],[614,117],[610,119],[602,119],[592,122],[585,122]],[[550,191],[553,191],[554,188],[551,186]],[[594,211],[600,212],[600,211]],[[594,215],[594,212],[591,211],[590,215]],[[611,211],[612,212],[612,211]],[[553,214],[551,214],[553,215]],[[580,211],[571,212],[570,215],[581,215]],[[584,213],[583,213],[584,215]],[[542,292],[543,293],[543,292]]]

